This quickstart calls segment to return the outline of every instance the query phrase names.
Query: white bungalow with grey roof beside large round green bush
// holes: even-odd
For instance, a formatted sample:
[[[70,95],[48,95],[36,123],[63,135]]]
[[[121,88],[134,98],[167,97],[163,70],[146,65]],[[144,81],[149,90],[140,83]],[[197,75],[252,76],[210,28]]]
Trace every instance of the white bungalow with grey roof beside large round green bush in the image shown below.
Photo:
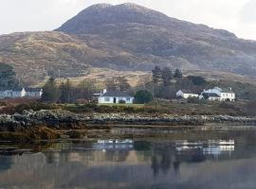
[[[119,104],[120,101],[125,102],[125,104],[133,104],[134,96],[125,94],[123,92],[107,92],[106,90],[99,96],[99,104]]]

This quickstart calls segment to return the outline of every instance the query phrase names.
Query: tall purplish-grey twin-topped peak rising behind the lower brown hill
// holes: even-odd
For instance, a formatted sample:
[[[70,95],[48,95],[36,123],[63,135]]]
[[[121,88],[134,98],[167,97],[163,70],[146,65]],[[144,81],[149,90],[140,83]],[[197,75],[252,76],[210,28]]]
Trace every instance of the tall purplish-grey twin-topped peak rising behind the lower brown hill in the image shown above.
[[[256,70],[255,42],[130,3],[84,9],[57,31],[76,35],[90,47],[125,52],[136,58],[111,60],[119,60],[116,68],[150,69],[154,64],[169,64],[244,75],[254,75]]]

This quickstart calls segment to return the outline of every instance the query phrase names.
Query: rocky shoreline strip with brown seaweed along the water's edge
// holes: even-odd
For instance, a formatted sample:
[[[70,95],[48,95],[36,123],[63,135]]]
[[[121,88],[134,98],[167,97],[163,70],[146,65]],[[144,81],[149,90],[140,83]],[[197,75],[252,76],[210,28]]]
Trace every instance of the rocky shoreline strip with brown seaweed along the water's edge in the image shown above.
[[[172,129],[172,126],[196,127],[210,124],[256,126],[256,117],[24,111],[22,114],[0,114],[0,139],[11,139],[11,137],[19,137],[24,140],[55,139],[60,137],[56,132],[58,129],[111,129],[120,126],[124,128],[129,126],[135,128],[165,126]]]

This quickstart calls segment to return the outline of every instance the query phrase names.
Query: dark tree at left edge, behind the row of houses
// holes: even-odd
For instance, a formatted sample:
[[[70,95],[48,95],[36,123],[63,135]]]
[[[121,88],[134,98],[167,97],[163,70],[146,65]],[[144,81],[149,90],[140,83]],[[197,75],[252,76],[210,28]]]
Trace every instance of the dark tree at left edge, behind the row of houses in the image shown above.
[[[0,63],[0,89],[14,88],[19,85],[16,74],[8,64]]]

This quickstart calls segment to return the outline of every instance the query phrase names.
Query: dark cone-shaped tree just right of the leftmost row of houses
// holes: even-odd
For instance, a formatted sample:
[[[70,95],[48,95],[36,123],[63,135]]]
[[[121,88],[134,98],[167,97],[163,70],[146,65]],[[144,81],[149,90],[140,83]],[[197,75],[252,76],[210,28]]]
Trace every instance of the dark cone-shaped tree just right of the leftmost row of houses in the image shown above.
[[[43,87],[42,99],[46,102],[57,102],[60,96],[61,93],[56,85],[55,78],[50,77]]]

